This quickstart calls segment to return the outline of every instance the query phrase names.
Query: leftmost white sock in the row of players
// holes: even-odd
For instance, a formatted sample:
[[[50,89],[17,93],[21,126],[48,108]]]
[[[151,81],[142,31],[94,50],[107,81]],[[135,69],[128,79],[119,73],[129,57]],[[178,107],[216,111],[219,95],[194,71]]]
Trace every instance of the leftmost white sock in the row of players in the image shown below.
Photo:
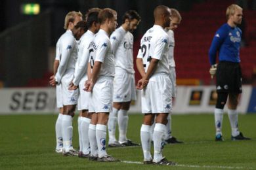
[[[56,133],[56,149],[63,147],[63,138],[62,138],[62,114],[58,114],[58,118],[55,124],[55,133]]]

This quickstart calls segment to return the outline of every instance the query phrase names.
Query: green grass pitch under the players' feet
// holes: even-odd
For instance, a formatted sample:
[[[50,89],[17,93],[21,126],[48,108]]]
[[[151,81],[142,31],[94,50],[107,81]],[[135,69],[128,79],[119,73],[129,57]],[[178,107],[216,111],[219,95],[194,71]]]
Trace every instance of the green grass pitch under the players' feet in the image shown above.
[[[256,169],[256,114],[239,116],[240,130],[251,141],[231,141],[224,115],[224,142],[215,142],[213,114],[173,115],[173,136],[184,144],[165,145],[163,155],[179,165],[166,167],[139,163],[98,163],[54,152],[56,115],[0,116],[0,169]],[[141,114],[129,116],[128,137],[140,142]],[[74,148],[78,147],[77,116]],[[125,161],[141,162],[142,148],[107,148]],[[153,147],[152,147],[153,153]]]

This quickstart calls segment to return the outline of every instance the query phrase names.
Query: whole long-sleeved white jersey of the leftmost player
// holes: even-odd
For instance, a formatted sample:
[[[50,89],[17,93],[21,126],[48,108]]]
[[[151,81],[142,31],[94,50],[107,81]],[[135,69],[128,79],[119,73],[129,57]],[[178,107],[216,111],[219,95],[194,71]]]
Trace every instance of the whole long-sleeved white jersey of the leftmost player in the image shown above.
[[[77,61],[77,42],[75,41],[72,31],[67,30],[66,33],[60,37],[58,43],[60,65],[58,66],[55,80],[59,84],[67,70],[75,69],[75,62]]]

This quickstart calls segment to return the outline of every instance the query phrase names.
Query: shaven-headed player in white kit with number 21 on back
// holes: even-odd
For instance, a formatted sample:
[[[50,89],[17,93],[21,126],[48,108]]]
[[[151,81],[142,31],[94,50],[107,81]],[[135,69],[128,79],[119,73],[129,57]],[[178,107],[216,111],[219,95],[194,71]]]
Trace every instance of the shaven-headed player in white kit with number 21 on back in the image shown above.
[[[137,88],[142,90],[142,113],[144,114],[140,139],[144,164],[175,165],[162,154],[167,116],[172,107],[168,65],[169,37],[164,30],[165,27],[169,27],[171,22],[171,10],[163,5],[156,7],[154,19],[154,26],[146,31],[140,41],[140,50],[137,56],[137,68],[142,76],[142,79],[138,81]],[[152,160],[150,129],[155,115],[154,159]]]

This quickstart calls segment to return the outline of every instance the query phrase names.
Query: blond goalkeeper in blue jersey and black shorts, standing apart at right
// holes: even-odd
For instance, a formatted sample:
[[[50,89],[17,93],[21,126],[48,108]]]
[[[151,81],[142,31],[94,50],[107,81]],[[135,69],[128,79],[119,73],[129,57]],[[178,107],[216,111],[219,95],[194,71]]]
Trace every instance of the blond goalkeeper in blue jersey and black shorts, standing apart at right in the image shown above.
[[[242,31],[237,25],[242,22],[242,8],[232,4],[226,9],[227,23],[215,33],[209,49],[211,78],[216,74],[217,103],[215,106],[215,141],[223,141],[221,128],[223,126],[223,109],[228,99],[228,117],[232,129],[231,139],[248,140],[248,137],[238,130],[238,99],[242,93],[242,73],[240,67],[240,42]],[[216,56],[219,54],[219,64]]]

